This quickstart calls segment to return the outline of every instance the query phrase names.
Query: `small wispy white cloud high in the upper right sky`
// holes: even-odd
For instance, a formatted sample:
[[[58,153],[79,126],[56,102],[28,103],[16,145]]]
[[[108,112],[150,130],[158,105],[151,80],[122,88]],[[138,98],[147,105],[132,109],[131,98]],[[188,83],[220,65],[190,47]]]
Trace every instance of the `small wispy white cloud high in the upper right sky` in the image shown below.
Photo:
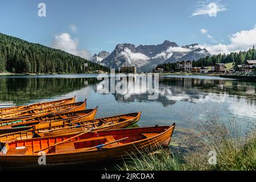
[[[197,15],[209,15],[210,17],[217,16],[217,13],[221,11],[226,11],[226,8],[223,5],[220,5],[217,2],[212,2],[209,4],[203,3],[192,13],[192,16]]]

